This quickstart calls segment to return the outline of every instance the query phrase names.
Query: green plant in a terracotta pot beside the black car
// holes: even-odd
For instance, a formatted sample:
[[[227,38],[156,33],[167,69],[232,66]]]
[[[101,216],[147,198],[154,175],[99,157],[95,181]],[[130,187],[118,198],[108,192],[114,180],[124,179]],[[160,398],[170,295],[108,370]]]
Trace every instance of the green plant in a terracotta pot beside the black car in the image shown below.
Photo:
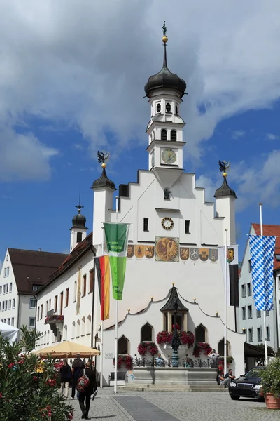
[[[260,370],[262,394],[269,409],[280,409],[280,357],[269,361],[265,370]]]

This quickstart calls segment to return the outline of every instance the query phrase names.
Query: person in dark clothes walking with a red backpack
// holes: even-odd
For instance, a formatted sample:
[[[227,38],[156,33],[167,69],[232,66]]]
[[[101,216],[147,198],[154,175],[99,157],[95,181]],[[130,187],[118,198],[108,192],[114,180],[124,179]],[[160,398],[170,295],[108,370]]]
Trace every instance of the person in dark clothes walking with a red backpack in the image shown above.
[[[90,396],[97,394],[97,380],[95,371],[92,370],[92,362],[87,361],[85,364],[85,374],[80,377],[77,384],[79,392],[79,403],[82,411],[82,418],[88,420],[88,412],[90,410]]]

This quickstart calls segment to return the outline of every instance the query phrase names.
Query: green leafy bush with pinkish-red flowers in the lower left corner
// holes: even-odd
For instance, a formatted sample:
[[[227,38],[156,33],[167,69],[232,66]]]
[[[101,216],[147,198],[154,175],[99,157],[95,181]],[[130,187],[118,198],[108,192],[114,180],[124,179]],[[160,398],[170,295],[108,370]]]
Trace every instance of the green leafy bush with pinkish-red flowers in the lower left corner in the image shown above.
[[[58,394],[59,375],[55,361],[31,353],[36,331],[22,328],[22,339],[10,344],[0,335],[1,421],[65,421],[73,408]]]

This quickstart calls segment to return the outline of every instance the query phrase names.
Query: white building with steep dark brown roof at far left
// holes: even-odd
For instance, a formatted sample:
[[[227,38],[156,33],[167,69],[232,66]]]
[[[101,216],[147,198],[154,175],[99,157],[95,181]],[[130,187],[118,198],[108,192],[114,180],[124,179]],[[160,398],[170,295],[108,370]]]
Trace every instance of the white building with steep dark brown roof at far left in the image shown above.
[[[0,319],[20,328],[36,327],[36,291],[66,255],[8,248],[0,273]]]

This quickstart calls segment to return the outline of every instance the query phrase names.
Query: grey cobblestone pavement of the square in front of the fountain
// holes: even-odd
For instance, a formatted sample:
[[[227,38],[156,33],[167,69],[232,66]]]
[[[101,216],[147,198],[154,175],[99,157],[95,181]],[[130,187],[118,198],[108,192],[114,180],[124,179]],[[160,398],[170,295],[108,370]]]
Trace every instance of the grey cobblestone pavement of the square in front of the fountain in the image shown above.
[[[147,415],[144,411],[141,417],[132,417],[123,406],[114,399],[113,387],[99,389],[96,399],[91,402],[89,418],[95,421],[112,420],[143,420],[143,421],[168,421],[172,417],[162,415],[162,411]],[[246,421],[279,421],[279,410],[267,410],[264,402],[248,399],[232,401],[227,392],[123,392],[119,396],[140,396],[158,408],[178,418],[180,421],[224,421],[228,417],[235,420]],[[122,401],[122,399],[120,399]],[[73,421],[81,419],[78,400],[70,401],[76,409]],[[145,401],[144,401],[145,402]],[[147,405],[148,407],[148,405]],[[150,408],[150,405],[149,405]],[[147,410],[147,408],[146,408]],[[136,414],[137,412],[135,412]],[[148,412],[150,414],[150,412]]]

